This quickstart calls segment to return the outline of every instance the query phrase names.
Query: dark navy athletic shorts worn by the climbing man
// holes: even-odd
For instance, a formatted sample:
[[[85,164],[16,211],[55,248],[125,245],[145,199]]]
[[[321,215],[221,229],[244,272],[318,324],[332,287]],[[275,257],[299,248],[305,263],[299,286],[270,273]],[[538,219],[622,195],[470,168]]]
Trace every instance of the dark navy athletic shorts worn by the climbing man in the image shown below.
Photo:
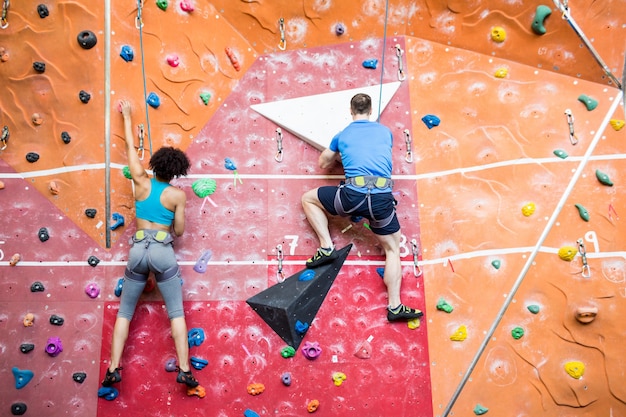
[[[337,215],[337,212],[335,211],[335,193],[337,192],[337,188],[338,187],[336,186],[324,186],[318,188],[317,190],[317,198],[319,198],[326,211],[333,216]],[[343,187],[340,192],[341,203],[343,205],[344,211],[352,210],[365,199],[365,193],[360,193],[348,187]],[[372,194],[371,199],[372,213],[374,214],[376,220],[383,220],[392,212],[394,213],[391,223],[389,223],[387,226],[383,228],[375,228],[371,227],[370,225],[372,232],[377,235],[390,235],[400,230],[400,222],[398,221],[398,216],[395,213],[397,201],[393,197],[393,194],[391,194],[391,192]],[[367,201],[364,202],[361,207],[359,207],[356,211],[350,213],[349,215],[362,216],[370,220],[372,218],[367,205]]]

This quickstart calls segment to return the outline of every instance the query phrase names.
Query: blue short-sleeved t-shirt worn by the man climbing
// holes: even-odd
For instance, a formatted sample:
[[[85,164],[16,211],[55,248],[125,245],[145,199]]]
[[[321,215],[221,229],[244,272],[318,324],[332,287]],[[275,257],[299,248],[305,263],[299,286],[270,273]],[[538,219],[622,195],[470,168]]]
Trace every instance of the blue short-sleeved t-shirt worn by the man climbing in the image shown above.
[[[369,120],[355,120],[332,138],[328,148],[341,154],[346,178],[391,178],[392,145],[393,135],[387,126]],[[366,192],[365,188],[349,187]],[[380,192],[389,192],[389,189],[372,189],[372,193]]]

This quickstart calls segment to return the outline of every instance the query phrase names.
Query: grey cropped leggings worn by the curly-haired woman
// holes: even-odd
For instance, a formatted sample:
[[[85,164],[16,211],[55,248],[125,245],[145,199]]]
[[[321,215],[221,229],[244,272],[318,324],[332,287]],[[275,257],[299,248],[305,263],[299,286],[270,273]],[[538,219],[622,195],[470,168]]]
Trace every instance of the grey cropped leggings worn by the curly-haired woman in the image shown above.
[[[132,320],[148,275],[153,272],[165,301],[167,316],[170,320],[184,317],[180,268],[174,255],[171,236],[166,234],[165,239],[162,239],[162,235],[157,235],[156,230],[143,230],[133,236],[131,243],[117,316]]]

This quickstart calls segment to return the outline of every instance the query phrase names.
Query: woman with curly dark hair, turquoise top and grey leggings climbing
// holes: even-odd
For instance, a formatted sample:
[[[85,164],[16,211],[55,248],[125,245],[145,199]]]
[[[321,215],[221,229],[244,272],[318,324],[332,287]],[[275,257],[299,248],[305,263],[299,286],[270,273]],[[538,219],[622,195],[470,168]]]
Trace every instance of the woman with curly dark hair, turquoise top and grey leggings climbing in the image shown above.
[[[154,178],[150,178],[135,151],[130,103],[121,101],[120,110],[124,117],[128,168],[135,190],[137,231],[130,242],[132,246],[124,272],[120,309],[113,328],[111,362],[102,385],[110,387],[122,380],[120,361],[128,338],[130,321],[148,275],[152,272],[170,319],[178,359],[176,381],[195,388],[198,381],[189,369],[189,341],[183,310],[180,268],[170,234],[170,229],[176,236],[181,236],[185,231],[187,197],[184,191],[171,186],[169,182],[175,177],[187,175],[189,159],[180,149],[163,147],[150,158],[150,168],[154,173]]]

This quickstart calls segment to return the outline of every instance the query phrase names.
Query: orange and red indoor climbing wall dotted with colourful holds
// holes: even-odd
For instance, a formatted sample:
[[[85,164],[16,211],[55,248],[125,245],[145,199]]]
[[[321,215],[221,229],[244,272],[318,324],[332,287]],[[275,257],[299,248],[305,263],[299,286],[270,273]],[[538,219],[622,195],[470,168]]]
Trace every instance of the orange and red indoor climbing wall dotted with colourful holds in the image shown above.
[[[96,3],[4,2],[1,415],[296,416],[318,400],[322,416],[626,416],[624,108],[552,2]],[[626,4],[569,6],[621,78]],[[303,270],[317,242],[300,196],[342,171],[319,170],[315,146],[252,106],[347,112],[324,94],[396,81],[380,119],[403,299],[425,317],[387,323],[381,249],[364,222],[331,219],[335,244],[353,246],[303,339],[321,354],[285,358],[246,300]],[[166,371],[157,289],[119,396],[97,396],[135,229],[121,98],[146,166],[164,145],[192,161],[174,181],[188,198],[175,248],[204,398]],[[210,199],[191,188],[206,179]]]

